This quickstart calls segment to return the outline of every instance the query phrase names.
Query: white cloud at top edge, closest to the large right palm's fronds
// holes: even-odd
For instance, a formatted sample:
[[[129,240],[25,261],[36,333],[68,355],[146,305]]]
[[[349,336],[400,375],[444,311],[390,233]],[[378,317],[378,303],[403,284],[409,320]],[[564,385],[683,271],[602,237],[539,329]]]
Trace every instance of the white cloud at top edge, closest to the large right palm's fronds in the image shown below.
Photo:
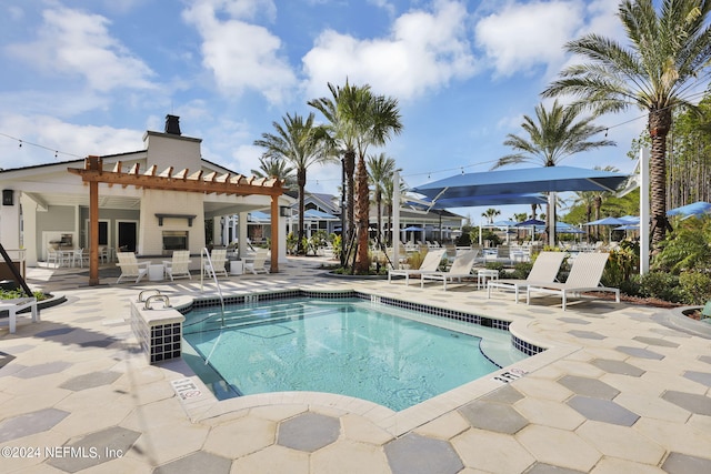
[[[575,37],[582,21],[583,9],[577,1],[509,3],[477,23],[477,44],[498,75],[529,72],[535,65],[558,69],[564,61],[564,43]]]

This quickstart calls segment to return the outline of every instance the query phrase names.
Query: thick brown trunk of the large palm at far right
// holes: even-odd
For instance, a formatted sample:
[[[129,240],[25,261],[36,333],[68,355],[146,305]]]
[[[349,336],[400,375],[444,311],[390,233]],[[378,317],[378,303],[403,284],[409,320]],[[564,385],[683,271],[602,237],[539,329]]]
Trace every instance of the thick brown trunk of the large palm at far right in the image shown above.
[[[667,220],[667,134],[671,125],[671,109],[651,111],[649,135],[652,140],[650,153],[650,188],[652,218],[652,253],[660,251],[660,243],[669,230]]]

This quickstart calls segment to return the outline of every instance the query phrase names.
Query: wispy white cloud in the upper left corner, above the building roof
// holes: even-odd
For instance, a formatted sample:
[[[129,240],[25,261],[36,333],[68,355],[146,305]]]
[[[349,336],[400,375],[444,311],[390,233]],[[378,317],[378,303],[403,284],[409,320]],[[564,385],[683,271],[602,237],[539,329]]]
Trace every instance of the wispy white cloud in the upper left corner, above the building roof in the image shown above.
[[[153,87],[151,69],[110,36],[107,18],[58,8],[42,19],[36,41],[10,44],[8,52],[49,74],[83,77],[100,92]]]

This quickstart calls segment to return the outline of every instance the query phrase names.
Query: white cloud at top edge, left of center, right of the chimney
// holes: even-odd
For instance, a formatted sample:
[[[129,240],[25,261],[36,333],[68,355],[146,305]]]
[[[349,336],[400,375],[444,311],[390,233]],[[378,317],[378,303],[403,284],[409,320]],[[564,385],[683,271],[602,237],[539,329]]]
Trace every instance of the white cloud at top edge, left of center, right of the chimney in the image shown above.
[[[296,85],[296,74],[280,54],[281,40],[267,28],[243,21],[259,14],[271,18],[274,11],[271,1],[203,0],[183,12],[202,37],[202,63],[222,93],[254,90],[280,103]]]

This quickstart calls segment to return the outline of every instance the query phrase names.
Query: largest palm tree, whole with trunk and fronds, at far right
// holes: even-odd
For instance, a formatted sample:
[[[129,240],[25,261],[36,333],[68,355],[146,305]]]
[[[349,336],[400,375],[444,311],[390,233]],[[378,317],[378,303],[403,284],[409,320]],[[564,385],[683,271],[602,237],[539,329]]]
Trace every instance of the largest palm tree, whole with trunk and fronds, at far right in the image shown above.
[[[589,60],[560,73],[544,97],[571,94],[578,108],[597,113],[637,107],[648,112],[652,249],[670,229],[667,220],[667,135],[673,108],[695,110],[694,85],[707,80],[711,65],[711,0],[663,0],[659,14],[653,0],[624,0],[618,17],[629,48],[598,34],[570,41],[565,49]]]

